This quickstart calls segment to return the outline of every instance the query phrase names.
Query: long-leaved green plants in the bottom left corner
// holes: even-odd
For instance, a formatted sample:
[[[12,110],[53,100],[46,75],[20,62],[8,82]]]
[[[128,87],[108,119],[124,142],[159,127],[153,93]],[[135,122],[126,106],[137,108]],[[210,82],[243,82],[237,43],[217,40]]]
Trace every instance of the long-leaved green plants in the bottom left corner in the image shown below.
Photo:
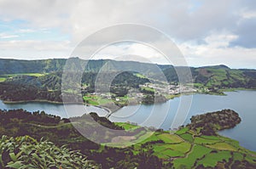
[[[86,157],[78,151],[72,151],[46,140],[39,142],[29,136],[0,139],[0,166],[1,168],[98,168],[90,164]]]

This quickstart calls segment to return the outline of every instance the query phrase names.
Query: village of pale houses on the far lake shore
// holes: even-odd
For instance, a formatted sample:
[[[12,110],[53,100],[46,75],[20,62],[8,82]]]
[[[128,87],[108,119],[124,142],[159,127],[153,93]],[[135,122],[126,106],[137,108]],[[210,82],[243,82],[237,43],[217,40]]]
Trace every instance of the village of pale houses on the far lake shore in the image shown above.
[[[110,103],[127,105],[127,104],[150,104],[151,102],[166,102],[181,94],[199,93],[200,89],[191,85],[171,85],[162,83],[145,83],[139,85],[139,88],[129,88],[123,96],[114,93],[87,93],[84,96],[86,104],[107,106]],[[150,96],[150,97],[148,97]],[[154,96],[154,97],[152,97]],[[145,102],[145,99],[151,99],[151,102]]]

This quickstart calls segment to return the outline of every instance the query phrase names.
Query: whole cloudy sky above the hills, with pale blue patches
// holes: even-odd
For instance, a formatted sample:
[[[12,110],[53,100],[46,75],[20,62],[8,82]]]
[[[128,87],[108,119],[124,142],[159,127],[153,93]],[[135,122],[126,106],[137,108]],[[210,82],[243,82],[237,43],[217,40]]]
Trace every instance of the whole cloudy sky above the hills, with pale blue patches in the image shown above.
[[[256,69],[253,0],[0,0],[0,58],[69,58],[86,37],[127,23],[162,32],[189,66]],[[119,36],[114,32],[102,39]],[[145,41],[170,48],[154,35],[149,34]],[[91,42],[87,49],[95,44]],[[141,42],[109,44],[98,50],[95,58],[129,55],[130,59],[141,56],[148,62],[166,64],[160,51]]]

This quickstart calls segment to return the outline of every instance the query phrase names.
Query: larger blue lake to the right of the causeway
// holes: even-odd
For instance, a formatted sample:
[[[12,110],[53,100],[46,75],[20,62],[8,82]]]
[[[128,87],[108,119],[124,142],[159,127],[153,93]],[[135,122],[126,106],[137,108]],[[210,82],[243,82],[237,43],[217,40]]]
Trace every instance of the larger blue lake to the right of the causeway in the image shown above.
[[[256,91],[228,92],[227,96],[194,94],[192,103],[183,124],[189,123],[192,115],[207,112],[231,109],[241,116],[241,123],[236,127],[219,132],[221,135],[238,140],[241,146],[256,151]],[[114,113],[111,121],[132,121],[142,126],[160,127],[168,130],[172,127],[172,121],[180,106],[188,106],[186,102],[181,104],[181,99],[167,101],[165,104],[131,105]],[[189,104],[189,103],[188,103]],[[186,114],[186,112],[184,112]]]

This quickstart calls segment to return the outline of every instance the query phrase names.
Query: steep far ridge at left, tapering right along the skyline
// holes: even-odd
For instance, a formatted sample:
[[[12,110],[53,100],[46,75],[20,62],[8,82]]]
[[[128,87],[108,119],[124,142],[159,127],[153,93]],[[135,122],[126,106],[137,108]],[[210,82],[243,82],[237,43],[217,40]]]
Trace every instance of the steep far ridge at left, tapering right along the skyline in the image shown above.
[[[19,59],[0,59],[0,75],[17,73],[50,73],[63,70],[67,59],[38,59],[38,60],[19,60]],[[86,71],[99,71],[104,68],[111,70],[136,70],[138,72],[154,72],[165,70],[172,65],[155,65],[135,61],[115,61],[109,59],[83,60],[73,58],[79,64],[86,63]],[[88,62],[88,63],[87,63]],[[107,64],[107,65],[106,65]]]

